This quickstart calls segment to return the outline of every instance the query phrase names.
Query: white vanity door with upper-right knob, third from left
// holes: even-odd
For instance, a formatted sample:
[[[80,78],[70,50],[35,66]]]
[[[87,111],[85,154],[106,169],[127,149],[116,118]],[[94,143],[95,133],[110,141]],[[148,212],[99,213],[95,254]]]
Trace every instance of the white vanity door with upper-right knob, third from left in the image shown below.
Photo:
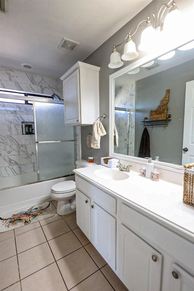
[[[125,226],[119,233],[119,278],[130,291],[159,291],[162,255]]]

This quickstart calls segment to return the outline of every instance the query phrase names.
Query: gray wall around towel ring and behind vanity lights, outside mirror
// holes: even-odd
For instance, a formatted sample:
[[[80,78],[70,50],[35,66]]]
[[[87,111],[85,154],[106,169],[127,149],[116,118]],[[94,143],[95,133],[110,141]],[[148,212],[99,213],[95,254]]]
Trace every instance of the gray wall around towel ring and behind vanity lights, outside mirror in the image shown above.
[[[94,162],[100,164],[100,158],[109,155],[109,75],[118,71],[118,69],[109,69],[108,64],[110,62],[110,54],[112,52],[113,43],[118,44],[122,42],[125,36],[128,34],[129,30],[139,24],[140,21],[146,19],[152,12],[156,15],[159,8],[163,3],[167,1],[152,1],[146,8],[139,12],[132,20],[130,20],[126,25],[124,25],[118,32],[112,35],[106,42],[104,42],[98,49],[95,50],[84,62],[91,65],[96,65],[101,67],[99,72],[99,85],[100,85],[100,115],[106,114],[106,119],[103,120],[104,128],[107,135],[101,138],[100,149],[88,149],[86,146],[86,136],[88,133],[92,133],[92,125],[82,126],[82,159],[87,159],[88,156],[94,157]],[[176,1],[178,8],[181,12],[188,12],[189,9],[193,8],[193,0],[187,1]],[[114,21],[114,19],[112,20]],[[133,41],[136,44],[136,48],[140,43],[142,28],[139,28],[138,32],[134,35]],[[124,45],[118,48],[120,54],[123,52]],[[139,52],[138,59],[142,58],[145,54]],[[135,59],[134,61],[136,61]],[[131,64],[134,61],[124,61],[123,67]]]

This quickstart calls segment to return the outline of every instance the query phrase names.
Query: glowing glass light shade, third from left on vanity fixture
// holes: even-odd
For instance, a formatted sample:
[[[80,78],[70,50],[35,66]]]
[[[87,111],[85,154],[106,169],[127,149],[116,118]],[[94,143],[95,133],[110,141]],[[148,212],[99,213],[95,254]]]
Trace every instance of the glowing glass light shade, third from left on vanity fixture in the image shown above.
[[[141,43],[138,46],[140,51],[151,52],[154,50],[156,43],[156,31],[152,26],[146,27],[142,31]]]

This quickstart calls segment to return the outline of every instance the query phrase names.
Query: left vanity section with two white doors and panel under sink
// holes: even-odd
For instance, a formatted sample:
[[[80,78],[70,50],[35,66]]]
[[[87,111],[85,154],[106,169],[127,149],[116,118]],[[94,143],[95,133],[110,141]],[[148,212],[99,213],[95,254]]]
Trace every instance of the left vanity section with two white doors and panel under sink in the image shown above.
[[[115,270],[116,199],[80,177],[75,183],[77,225]]]

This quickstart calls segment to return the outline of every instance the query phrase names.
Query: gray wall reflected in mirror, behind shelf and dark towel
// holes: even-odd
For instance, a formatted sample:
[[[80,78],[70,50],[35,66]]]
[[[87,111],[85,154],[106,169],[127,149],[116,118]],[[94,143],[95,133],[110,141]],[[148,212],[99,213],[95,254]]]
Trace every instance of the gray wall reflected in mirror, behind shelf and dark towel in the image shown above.
[[[165,129],[163,126],[147,127],[150,155],[154,160],[159,156],[161,162],[181,165],[186,82],[194,79],[193,68],[194,60],[191,60],[136,82],[135,156],[138,156],[144,129],[141,121],[145,116],[149,118],[150,110],[158,107],[166,90],[170,89],[167,106],[172,121]]]

